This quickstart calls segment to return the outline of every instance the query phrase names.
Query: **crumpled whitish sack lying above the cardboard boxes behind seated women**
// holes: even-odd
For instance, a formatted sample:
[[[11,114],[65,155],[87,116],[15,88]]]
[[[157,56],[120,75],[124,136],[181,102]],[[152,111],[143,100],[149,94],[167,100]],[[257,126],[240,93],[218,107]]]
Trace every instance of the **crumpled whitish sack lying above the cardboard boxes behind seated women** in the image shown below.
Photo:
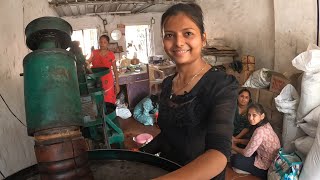
[[[266,88],[270,85],[269,69],[254,71],[242,87]]]

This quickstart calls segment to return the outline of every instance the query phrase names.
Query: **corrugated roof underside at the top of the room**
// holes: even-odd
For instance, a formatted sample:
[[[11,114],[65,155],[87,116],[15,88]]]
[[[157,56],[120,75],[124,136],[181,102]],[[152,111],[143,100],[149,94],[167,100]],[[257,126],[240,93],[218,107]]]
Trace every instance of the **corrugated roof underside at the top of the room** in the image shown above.
[[[60,17],[90,14],[136,14],[164,12],[176,3],[195,2],[195,0],[48,0]]]

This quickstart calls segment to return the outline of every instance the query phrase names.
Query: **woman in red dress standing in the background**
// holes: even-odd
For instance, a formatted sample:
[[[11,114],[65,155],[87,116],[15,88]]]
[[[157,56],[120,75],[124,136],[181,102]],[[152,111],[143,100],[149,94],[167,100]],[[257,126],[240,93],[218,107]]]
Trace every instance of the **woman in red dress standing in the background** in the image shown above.
[[[116,94],[119,93],[119,81],[118,72],[115,61],[115,56],[112,51],[108,50],[109,37],[107,35],[102,35],[99,38],[99,48],[93,50],[91,57],[86,61],[89,66],[92,63],[91,68],[109,68],[110,73],[101,77],[102,88],[104,89],[104,101],[115,104]],[[90,67],[88,67],[90,68]],[[112,71],[111,71],[112,69]],[[115,79],[113,78],[115,77]]]

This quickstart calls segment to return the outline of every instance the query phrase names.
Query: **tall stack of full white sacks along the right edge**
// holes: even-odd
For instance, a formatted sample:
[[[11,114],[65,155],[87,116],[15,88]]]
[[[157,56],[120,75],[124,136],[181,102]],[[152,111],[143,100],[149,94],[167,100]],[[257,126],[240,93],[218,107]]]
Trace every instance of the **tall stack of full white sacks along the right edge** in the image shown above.
[[[320,50],[310,47],[292,61],[304,71],[296,123],[305,135],[294,141],[296,149],[306,155],[302,180],[320,179]]]

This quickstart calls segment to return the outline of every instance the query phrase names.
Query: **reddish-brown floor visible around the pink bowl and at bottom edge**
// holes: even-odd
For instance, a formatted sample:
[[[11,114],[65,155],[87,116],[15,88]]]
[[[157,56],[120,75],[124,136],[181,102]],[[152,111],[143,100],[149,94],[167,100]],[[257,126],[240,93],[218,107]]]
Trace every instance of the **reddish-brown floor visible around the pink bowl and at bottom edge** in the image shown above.
[[[132,139],[136,135],[141,133],[149,133],[155,137],[160,132],[160,129],[156,126],[144,126],[133,118],[125,120],[119,118],[119,124],[124,132],[124,147],[126,149],[139,148],[139,145],[137,145]],[[230,167],[227,167],[226,180],[259,180],[259,178],[251,175],[238,174]]]

